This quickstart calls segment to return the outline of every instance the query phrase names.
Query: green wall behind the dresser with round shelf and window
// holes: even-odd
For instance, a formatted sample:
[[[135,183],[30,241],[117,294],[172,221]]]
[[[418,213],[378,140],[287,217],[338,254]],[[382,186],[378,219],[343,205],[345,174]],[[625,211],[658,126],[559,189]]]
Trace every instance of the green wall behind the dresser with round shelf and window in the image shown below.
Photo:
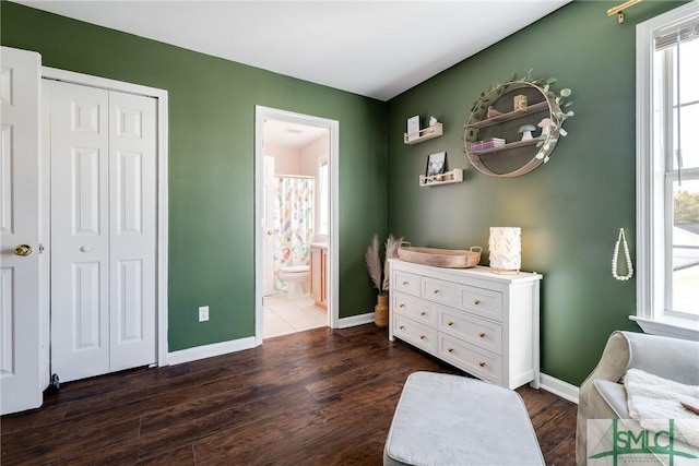
[[[522,268],[544,275],[542,371],[574,385],[614,330],[639,330],[628,320],[636,279],[611,274],[619,228],[636,247],[636,24],[683,2],[640,3],[624,24],[606,15],[616,3],[573,1],[389,101],[389,231],[414,246],[487,251],[488,227],[522,227]],[[469,166],[463,126],[481,92],[531,69],[573,92],[576,116],[550,160],[519,178],[471,167],[463,183],[419,188],[430,153],[447,151],[451,168]],[[437,117],[443,136],[404,145],[414,115]]]

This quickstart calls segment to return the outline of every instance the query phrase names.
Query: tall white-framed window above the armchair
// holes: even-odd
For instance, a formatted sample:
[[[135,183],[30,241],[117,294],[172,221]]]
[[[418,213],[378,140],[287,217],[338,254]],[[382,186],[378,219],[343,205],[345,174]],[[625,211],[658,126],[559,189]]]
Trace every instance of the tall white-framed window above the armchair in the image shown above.
[[[635,320],[699,338],[699,0],[640,24],[636,48]]]

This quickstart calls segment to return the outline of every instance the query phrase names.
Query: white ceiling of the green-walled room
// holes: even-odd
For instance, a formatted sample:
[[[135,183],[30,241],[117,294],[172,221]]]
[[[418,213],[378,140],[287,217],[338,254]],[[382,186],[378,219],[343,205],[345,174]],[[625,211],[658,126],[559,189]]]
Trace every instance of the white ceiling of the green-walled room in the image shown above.
[[[388,100],[570,0],[15,0]]]

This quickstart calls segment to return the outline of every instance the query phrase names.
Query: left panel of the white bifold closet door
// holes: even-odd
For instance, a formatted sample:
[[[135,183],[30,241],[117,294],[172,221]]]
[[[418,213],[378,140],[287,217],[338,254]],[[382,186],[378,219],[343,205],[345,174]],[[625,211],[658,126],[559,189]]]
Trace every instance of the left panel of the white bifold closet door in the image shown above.
[[[109,93],[50,82],[51,372],[109,371]]]

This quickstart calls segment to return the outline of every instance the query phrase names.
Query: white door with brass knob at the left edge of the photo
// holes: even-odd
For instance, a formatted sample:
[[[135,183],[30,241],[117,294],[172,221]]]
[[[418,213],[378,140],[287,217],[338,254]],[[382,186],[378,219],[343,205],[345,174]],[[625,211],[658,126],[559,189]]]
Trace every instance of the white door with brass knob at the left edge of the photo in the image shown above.
[[[0,414],[42,405],[39,350],[40,56],[0,51]],[[16,255],[16,246],[33,249]],[[17,251],[19,253],[26,252]]]

